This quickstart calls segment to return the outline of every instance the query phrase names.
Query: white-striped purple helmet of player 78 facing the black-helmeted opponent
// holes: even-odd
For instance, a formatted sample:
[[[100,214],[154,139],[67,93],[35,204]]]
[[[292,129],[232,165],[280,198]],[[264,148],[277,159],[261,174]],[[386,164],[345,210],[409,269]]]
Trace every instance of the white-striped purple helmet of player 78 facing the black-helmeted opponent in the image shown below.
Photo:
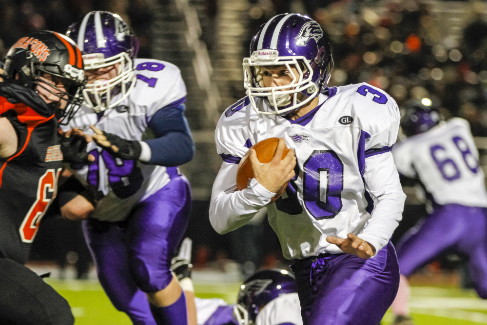
[[[85,70],[119,64],[115,78],[88,81],[83,91],[86,105],[97,113],[117,106],[136,83],[134,59],[138,40],[130,27],[117,14],[92,11],[69,26],[66,35],[78,44]],[[121,96],[112,101],[120,93]]]

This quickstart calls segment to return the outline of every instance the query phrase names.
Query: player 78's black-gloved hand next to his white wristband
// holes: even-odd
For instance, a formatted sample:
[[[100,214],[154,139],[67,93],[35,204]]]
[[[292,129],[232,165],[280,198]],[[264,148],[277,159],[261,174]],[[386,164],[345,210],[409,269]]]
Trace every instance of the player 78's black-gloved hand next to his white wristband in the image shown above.
[[[139,159],[142,147],[138,141],[122,139],[115,134],[101,131],[93,125],[90,125],[90,128],[95,132],[92,136],[93,140],[112,156],[123,160]]]

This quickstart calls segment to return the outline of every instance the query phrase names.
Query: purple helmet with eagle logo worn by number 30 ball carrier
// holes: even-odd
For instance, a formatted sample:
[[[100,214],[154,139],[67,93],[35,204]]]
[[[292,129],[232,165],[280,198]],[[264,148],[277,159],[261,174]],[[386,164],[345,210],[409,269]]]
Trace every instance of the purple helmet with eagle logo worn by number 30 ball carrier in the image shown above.
[[[262,66],[286,66],[289,85],[265,87]],[[281,14],[259,27],[243,60],[244,87],[260,114],[282,114],[312,101],[327,86],[333,68],[331,45],[321,26],[307,16]],[[292,68],[297,71],[293,73]],[[261,111],[255,98],[267,98],[273,111]]]

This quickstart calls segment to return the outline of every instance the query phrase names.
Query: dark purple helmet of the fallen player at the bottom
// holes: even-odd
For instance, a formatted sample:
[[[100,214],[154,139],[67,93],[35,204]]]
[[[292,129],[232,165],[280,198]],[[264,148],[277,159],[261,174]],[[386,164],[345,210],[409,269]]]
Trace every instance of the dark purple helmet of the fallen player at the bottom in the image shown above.
[[[240,325],[252,325],[265,305],[282,294],[294,292],[296,282],[288,271],[257,271],[240,285],[237,303],[234,306],[234,318]]]

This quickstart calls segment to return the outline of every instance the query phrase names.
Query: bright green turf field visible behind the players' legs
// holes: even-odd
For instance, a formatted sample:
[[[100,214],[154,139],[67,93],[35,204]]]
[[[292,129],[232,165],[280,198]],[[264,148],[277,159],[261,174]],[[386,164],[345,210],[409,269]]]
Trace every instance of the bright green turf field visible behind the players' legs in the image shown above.
[[[130,325],[129,318],[110,303],[95,281],[59,281],[49,279],[71,305],[76,325]],[[196,296],[222,298],[234,303],[238,283],[195,284]],[[478,325],[487,324],[487,302],[474,291],[456,288],[412,287],[410,307],[416,325]],[[382,322],[392,322],[390,312]]]

